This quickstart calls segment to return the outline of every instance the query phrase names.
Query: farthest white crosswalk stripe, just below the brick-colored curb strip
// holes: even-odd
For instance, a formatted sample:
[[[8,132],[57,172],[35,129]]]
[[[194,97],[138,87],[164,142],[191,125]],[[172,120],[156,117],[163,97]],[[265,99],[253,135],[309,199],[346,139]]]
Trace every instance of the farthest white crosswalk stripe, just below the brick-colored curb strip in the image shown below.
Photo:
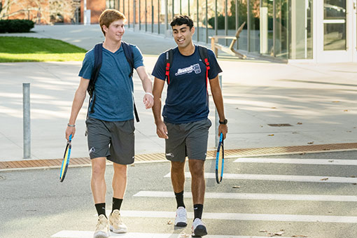
[[[269,158],[239,158],[237,163],[276,163],[300,165],[357,165],[357,160],[308,160],[308,159],[269,159]]]

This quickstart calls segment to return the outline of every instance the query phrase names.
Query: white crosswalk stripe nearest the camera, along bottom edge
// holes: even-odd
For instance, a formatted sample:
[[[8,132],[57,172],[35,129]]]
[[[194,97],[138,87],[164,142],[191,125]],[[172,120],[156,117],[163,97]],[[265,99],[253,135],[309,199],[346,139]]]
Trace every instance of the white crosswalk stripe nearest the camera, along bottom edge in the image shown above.
[[[79,231],[79,230],[62,230],[57,232],[51,237],[61,238],[92,238],[94,232]],[[111,237],[123,237],[123,238],[183,238],[187,237],[186,234],[162,234],[162,233],[133,233],[116,234],[111,232]],[[267,237],[252,237],[252,236],[237,236],[237,235],[207,235],[204,238],[267,238]],[[292,237],[281,237],[292,238]]]

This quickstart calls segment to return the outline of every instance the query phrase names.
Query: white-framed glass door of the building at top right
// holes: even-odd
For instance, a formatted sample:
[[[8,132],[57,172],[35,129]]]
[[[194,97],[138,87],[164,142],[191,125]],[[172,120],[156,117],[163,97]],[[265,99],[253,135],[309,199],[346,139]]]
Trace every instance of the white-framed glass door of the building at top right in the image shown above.
[[[318,62],[352,62],[353,1],[316,1],[318,6]],[[354,28],[356,29],[356,28]]]

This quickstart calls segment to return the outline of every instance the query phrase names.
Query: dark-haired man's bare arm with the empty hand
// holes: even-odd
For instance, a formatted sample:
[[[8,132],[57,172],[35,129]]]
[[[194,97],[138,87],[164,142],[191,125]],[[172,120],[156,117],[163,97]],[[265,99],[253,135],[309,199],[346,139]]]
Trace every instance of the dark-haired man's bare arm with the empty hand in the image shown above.
[[[158,137],[160,138],[169,139],[169,137],[167,136],[167,127],[161,118],[161,95],[162,95],[162,90],[164,89],[164,85],[165,85],[165,80],[161,80],[155,77],[154,88],[153,88],[153,95],[154,95],[153,114],[156,124],[156,134],[158,134]]]

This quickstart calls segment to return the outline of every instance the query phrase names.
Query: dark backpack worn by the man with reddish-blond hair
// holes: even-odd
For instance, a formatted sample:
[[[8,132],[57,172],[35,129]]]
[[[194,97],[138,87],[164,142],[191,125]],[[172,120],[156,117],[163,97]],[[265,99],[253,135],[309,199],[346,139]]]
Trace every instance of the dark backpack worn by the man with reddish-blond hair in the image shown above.
[[[121,46],[123,47],[124,55],[127,58],[127,62],[130,65],[131,70],[129,73],[129,78],[131,78],[134,73],[134,52],[132,51],[132,47],[130,46],[130,44],[126,43],[125,41],[122,41]],[[94,104],[95,104],[94,87],[95,87],[95,83],[97,82],[100,68],[102,67],[102,59],[103,59],[102,52],[103,52],[103,43],[97,43],[97,45],[94,46],[93,71],[92,71],[92,75],[90,76],[90,82],[87,87],[87,92],[90,95],[88,111],[87,111],[87,118],[88,118],[89,113],[94,113]],[[90,108],[90,102],[92,102],[91,108]],[[137,123],[139,123],[139,121],[140,121],[139,114],[137,112],[137,106],[135,106],[135,102],[134,102],[134,114],[135,114]]]

